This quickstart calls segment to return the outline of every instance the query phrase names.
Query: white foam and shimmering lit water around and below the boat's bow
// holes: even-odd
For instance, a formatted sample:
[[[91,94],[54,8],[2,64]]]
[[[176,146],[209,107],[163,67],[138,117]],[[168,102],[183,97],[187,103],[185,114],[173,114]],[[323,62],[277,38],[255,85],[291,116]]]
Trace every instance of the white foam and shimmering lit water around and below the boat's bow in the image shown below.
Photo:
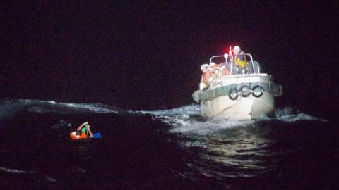
[[[170,125],[169,132],[182,138],[180,144],[198,158],[187,166],[193,173],[216,179],[268,175],[290,150],[276,150],[280,139],[272,134],[289,133],[297,122],[327,122],[287,107],[275,110],[273,118],[256,120],[206,120],[198,105],[170,110],[143,111]],[[283,130],[283,132],[281,132]],[[284,136],[284,135],[283,135]],[[228,172],[225,172],[228,171]],[[194,179],[189,172],[184,177]]]

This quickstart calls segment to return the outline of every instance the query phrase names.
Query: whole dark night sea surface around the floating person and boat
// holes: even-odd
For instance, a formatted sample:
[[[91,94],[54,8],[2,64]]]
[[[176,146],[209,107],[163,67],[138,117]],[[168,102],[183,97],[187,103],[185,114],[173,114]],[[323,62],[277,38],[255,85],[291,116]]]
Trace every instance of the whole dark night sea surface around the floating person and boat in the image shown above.
[[[0,110],[0,189],[339,187],[337,126],[289,107],[242,122],[204,120],[197,105],[7,100]],[[71,141],[85,121],[103,138]]]

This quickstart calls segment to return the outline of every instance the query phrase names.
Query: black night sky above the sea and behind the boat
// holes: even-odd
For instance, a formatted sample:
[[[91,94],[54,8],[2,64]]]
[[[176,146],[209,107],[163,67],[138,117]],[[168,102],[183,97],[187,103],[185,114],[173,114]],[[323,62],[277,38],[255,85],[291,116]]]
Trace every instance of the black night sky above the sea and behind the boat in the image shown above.
[[[2,2],[0,97],[184,106],[194,102],[200,65],[239,45],[284,86],[278,106],[333,113],[334,2]]]

